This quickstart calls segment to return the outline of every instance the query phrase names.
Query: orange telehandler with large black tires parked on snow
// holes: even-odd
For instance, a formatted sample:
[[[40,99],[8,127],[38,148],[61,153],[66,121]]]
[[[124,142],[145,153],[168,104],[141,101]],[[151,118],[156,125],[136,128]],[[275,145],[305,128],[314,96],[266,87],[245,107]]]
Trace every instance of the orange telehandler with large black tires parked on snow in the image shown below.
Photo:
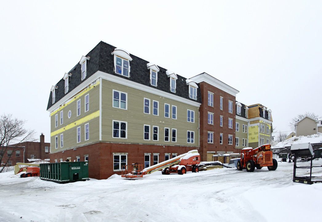
[[[257,148],[246,147],[242,149],[241,159],[237,162],[237,169],[245,169],[247,172],[253,172],[262,167],[267,167],[268,170],[277,169],[277,160],[273,158],[273,152],[270,144],[265,144]]]

